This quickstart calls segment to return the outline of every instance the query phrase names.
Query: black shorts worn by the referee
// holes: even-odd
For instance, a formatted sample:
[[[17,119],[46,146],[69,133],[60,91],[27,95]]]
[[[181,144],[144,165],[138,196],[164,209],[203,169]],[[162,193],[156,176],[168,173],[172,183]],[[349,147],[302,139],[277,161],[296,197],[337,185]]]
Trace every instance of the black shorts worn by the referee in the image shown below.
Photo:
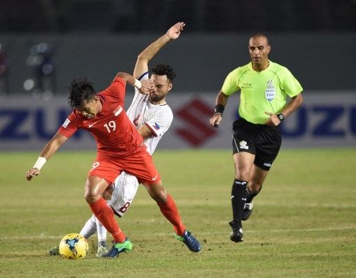
[[[232,129],[233,154],[238,152],[254,154],[254,164],[263,170],[270,170],[280,151],[282,143],[280,130],[266,124],[252,124],[243,118],[236,120]]]

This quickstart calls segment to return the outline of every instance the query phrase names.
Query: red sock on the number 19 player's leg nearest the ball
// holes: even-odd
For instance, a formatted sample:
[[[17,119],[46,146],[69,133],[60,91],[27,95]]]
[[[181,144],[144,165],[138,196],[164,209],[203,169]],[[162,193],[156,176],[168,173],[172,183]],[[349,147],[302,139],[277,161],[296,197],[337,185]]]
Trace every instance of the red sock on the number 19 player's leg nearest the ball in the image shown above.
[[[125,241],[125,234],[121,231],[118,222],[115,221],[114,212],[108,203],[100,198],[97,202],[89,204],[92,213],[97,219],[102,222],[103,226],[113,236],[115,243],[123,243]]]

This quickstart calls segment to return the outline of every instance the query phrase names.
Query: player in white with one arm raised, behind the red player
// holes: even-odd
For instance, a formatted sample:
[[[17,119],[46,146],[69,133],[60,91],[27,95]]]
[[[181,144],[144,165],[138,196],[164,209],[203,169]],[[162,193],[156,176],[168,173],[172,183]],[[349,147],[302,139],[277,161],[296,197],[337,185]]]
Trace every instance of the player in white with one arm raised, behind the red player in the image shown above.
[[[142,81],[150,79],[154,83],[154,90],[149,95],[143,95],[135,88],[135,95],[131,106],[127,110],[129,119],[143,136],[144,143],[147,146],[147,152],[153,154],[159,140],[161,140],[165,131],[172,124],[173,113],[165,102],[165,96],[172,89],[172,80],[175,79],[175,72],[169,65],[158,64],[151,70],[151,76],[148,72],[148,62],[156,53],[170,40],[175,40],[183,31],[184,22],[178,22],[170,27],[164,35],[158,40],[149,44],[139,55],[136,61],[133,77]],[[115,182],[108,187],[104,193],[104,199],[108,200],[111,208],[116,215],[122,217],[129,208],[138,189],[138,180],[131,174],[122,172]],[[80,233],[85,238],[89,238],[97,232],[98,249],[97,256],[102,256],[108,252],[106,243],[106,229],[95,218],[95,215],[86,222]],[[58,247],[49,250],[49,254],[58,254]]]

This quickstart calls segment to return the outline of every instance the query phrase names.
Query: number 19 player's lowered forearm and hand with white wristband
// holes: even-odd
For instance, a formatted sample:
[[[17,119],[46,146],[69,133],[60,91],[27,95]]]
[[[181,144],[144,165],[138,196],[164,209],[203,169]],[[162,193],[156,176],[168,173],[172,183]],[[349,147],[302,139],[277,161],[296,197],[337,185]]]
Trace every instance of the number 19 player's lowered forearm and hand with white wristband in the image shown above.
[[[67,139],[67,137],[57,132],[54,137],[49,140],[47,145],[44,146],[40,157],[38,157],[38,160],[35,162],[35,165],[33,165],[33,167],[29,171],[27,171],[26,179],[28,181],[31,181],[33,177],[38,176],[40,174],[40,170],[44,163],[46,163],[47,160],[49,160],[49,158],[51,158],[51,156],[56,153],[57,149],[59,149],[59,147],[63,145]]]

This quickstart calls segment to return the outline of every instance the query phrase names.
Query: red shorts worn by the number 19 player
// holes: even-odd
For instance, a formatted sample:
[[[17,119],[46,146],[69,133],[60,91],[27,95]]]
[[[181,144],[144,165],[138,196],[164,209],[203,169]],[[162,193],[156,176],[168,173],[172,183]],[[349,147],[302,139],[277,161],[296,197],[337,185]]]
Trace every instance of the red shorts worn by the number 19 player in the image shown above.
[[[152,156],[145,150],[125,158],[97,156],[88,176],[101,177],[111,184],[122,171],[132,174],[143,184],[156,184],[161,181]]]

